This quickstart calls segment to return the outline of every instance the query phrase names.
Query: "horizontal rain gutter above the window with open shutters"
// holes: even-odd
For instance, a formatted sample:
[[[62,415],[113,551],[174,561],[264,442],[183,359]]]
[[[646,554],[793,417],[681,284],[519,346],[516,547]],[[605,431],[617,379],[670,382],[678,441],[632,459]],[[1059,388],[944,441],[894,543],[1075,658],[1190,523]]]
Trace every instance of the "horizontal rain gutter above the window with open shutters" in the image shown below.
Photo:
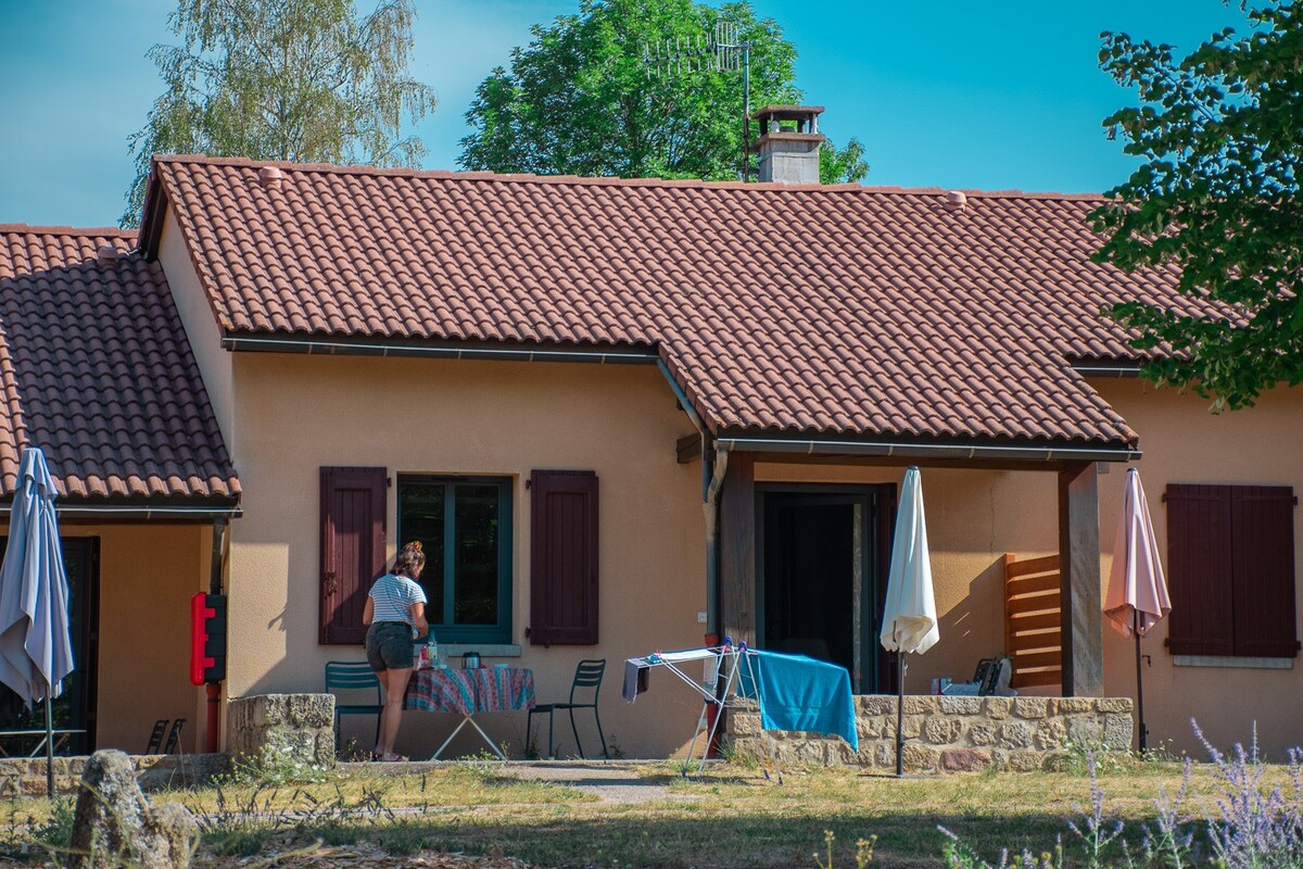
[[[294,337],[245,337],[227,335],[222,339],[227,350],[253,350],[265,353],[308,353],[313,356],[383,356],[444,360],[499,360],[512,362],[597,362],[599,365],[654,365],[659,357],[654,350],[551,350],[541,348],[489,348],[489,347],[434,347],[423,344],[397,344],[392,341],[331,341]]]

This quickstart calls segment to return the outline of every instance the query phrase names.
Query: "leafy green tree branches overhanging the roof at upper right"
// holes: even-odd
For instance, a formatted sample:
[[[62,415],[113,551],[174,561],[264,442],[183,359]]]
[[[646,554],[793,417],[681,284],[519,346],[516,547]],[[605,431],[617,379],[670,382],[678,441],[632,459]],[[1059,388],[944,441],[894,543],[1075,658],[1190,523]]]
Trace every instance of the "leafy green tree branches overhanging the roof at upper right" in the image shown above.
[[[1175,267],[1201,304],[1117,305],[1135,345],[1161,350],[1147,375],[1252,405],[1303,380],[1303,8],[1247,9],[1250,33],[1173,47],[1104,34],[1100,65],[1139,104],[1108,117],[1144,163],[1093,214],[1097,254],[1126,270]],[[1207,304],[1204,304],[1207,302]]]

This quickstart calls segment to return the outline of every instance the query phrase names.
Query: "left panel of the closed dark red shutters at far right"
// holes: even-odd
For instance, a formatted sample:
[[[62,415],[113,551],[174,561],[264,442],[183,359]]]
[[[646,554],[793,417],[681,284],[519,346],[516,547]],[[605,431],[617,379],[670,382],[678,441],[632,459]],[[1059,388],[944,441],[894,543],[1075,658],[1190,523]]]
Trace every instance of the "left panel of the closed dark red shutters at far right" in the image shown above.
[[[1177,655],[1235,654],[1230,486],[1170,485],[1165,500],[1167,648]]]

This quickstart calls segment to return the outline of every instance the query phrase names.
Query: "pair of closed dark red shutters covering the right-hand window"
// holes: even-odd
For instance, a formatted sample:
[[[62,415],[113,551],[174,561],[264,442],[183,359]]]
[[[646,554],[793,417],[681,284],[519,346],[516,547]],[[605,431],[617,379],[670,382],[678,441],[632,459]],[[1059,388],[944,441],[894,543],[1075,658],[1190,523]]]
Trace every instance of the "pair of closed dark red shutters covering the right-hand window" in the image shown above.
[[[1296,655],[1293,489],[1170,485],[1164,500],[1171,653]]]

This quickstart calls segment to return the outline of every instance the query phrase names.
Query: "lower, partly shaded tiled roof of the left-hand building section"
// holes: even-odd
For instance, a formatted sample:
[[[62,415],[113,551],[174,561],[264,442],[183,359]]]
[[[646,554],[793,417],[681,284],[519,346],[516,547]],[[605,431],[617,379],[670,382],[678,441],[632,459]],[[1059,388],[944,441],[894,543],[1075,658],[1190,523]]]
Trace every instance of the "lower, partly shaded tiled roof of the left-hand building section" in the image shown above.
[[[0,225],[0,499],[29,444],[69,500],[238,496],[163,270],[133,242]]]

